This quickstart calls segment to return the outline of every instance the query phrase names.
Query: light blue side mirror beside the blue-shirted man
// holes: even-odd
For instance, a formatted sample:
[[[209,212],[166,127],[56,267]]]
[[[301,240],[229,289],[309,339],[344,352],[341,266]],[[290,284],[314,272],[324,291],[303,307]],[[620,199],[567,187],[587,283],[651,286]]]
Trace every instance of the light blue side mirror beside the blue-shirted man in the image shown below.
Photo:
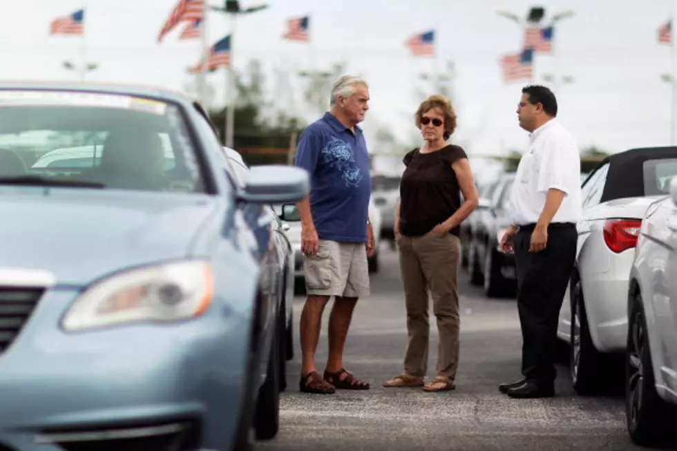
[[[254,204],[286,204],[298,202],[309,191],[310,178],[305,169],[280,164],[252,166],[247,172],[245,186],[238,189],[238,200]]]

